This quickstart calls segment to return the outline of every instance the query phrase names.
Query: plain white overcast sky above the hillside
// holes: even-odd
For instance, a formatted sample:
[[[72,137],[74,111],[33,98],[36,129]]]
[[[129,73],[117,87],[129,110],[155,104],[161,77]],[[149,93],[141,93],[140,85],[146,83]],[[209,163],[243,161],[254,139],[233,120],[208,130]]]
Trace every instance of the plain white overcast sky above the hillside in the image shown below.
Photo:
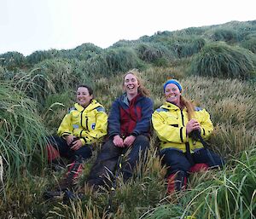
[[[0,54],[108,48],[120,39],[256,20],[255,0],[0,0]]]

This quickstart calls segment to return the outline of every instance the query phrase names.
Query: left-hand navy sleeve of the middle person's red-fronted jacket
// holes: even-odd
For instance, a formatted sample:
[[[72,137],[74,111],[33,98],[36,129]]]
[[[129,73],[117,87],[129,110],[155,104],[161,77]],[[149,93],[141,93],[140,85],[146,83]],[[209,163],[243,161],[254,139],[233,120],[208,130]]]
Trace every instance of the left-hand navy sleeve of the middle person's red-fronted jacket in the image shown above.
[[[119,102],[113,101],[108,118],[108,136],[121,135]]]

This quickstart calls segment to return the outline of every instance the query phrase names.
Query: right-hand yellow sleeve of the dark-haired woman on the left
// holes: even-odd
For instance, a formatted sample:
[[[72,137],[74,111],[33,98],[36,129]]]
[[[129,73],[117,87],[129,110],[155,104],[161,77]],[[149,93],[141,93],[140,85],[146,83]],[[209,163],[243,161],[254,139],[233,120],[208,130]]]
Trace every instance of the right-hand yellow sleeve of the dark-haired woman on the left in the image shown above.
[[[107,135],[108,115],[105,109],[96,112],[96,126],[94,130],[83,131],[80,140],[83,144],[91,144],[99,141],[102,136]]]

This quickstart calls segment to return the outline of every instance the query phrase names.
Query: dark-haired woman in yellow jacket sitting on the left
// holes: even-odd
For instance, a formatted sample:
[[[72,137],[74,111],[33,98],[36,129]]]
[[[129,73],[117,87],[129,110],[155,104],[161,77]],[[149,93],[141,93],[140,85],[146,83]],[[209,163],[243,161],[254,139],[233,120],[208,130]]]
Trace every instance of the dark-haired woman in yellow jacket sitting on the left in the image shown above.
[[[57,191],[45,193],[47,197],[60,195],[71,189],[83,167],[83,160],[92,155],[92,144],[107,135],[108,115],[104,107],[93,99],[93,90],[79,85],[77,103],[69,109],[58,129],[58,136],[49,138],[48,159],[55,162],[60,156],[71,160],[65,179]]]

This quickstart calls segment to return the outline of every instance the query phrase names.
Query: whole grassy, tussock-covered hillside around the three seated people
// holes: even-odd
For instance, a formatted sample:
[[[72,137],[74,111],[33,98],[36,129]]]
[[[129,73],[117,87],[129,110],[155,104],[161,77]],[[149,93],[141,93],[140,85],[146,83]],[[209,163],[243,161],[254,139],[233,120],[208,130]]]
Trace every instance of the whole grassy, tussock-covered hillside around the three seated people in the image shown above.
[[[84,185],[96,147],[79,182],[83,199],[69,205],[45,200],[44,191],[63,173],[47,165],[45,136],[55,134],[73,106],[74,89],[90,84],[109,112],[122,93],[122,75],[133,68],[141,72],[154,108],[163,102],[167,78],[177,78],[184,95],[207,108],[215,127],[209,143],[226,167],[197,173],[186,191],[167,195],[153,136],[146,165],[138,166],[130,182],[119,179],[113,197]],[[255,83],[256,20],[157,32],[108,49],[84,43],[0,55],[0,217],[255,218]],[[107,215],[109,199],[113,209]]]

